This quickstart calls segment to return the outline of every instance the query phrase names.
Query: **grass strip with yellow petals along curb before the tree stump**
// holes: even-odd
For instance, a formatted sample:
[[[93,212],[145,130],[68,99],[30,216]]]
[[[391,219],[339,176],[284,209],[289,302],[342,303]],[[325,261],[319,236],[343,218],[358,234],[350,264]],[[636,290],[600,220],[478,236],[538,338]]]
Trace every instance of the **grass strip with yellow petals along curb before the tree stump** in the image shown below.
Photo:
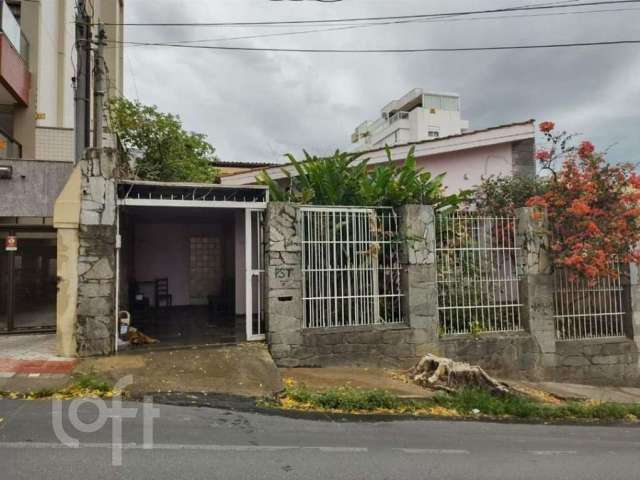
[[[285,382],[284,391],[265,405],[289,410],[317,410],[343,413],[391,413],[414,415],[518,418],[529,420],[585,420],[636,422],[640,403],[610,402],[546,403],[519,395],[495,396],[486,390],[469,388],[453,394],[438,394],[426,400],[408,400],[385,390],[364,390],[349,386],[313,391],[304,384]]]

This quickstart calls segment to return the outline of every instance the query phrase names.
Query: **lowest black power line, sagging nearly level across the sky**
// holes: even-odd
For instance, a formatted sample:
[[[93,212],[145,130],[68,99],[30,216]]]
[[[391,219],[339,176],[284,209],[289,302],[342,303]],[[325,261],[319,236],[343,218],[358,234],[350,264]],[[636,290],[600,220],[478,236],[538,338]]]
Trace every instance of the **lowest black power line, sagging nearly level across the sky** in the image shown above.
[[[331,48],[271,48],[271,47],[233,47],[222,45],[185,45],[175,43],[116,42],[127,45],[149,47],[193,48],[199,50],[221,50],[241,52],[283,52],[283,53],[447,53],[447,52],[483,52],[500,50],[533,50],[543,48],[594,47],[612,45],[635,45],[640,40],[610,40],[602,42],[550,43],[538,45],[498,45],[491,47],[453,47],[453,48],[386,48],[386,49],[331,49]]]

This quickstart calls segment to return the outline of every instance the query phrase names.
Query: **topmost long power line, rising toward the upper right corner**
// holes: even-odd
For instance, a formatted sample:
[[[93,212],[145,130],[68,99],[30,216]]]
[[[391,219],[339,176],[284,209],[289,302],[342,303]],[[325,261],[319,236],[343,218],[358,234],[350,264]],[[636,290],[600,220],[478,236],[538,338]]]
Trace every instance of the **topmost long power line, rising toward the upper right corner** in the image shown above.
[[[427,13],[417,15],[395,15],[384,17],[359,17],[359,18],[334,18],[325,20],[272,20],[272,21],[256,21],[256,22],[182,22],[182,23],[169,23],[169,22],[124,22],[124,23],[105,23],[109,26],[126,26],[126,27],[245,27],[245,26],[268,26],[268,25],[305,25],[305,24],[327,24],[327,23],[353,23],[353,22],[376,22],[384,20],[409,20],[409,19],[424,19],[434,17],[457,17],[462,15],[478,15],[488,13],[506,13],[516,11],[528,11],[528,10],[548,10],[548,9],[566,9],[576,8],[584,6],[598,6],[598,5],[615,5],[615,4],[629,4],[639,3],[640,0],[603,0],[593,2],[582,3],[545,3],[545,4],[533,4],[520,7],[506,7],[497,8],[492,10],[466,10],[458,12],[443,12],[443,13]]]

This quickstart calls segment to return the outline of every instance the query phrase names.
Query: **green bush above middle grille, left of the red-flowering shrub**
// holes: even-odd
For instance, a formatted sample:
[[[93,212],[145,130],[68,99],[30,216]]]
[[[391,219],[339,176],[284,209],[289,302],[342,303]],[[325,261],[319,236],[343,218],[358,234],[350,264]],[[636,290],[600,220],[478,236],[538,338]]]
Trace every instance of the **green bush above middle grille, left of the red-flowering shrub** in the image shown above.
[[[549,181],[545,178],[492,175],[483,178],[475,190],[475,203],[483,215],[510,217],[516,208],[525,207],[527,200],[543,195],[548,189]]]

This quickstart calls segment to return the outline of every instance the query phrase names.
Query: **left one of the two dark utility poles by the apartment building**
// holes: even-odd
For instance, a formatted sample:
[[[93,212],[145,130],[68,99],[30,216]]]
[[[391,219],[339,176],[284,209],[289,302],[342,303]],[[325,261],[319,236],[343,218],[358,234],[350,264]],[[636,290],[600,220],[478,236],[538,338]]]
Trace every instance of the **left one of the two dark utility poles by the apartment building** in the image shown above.
[[[75,161],[80,161],[89,148],[91,132],[91,17],[86,0],[78,0],[76,8],[76,65],[75,78]]]

